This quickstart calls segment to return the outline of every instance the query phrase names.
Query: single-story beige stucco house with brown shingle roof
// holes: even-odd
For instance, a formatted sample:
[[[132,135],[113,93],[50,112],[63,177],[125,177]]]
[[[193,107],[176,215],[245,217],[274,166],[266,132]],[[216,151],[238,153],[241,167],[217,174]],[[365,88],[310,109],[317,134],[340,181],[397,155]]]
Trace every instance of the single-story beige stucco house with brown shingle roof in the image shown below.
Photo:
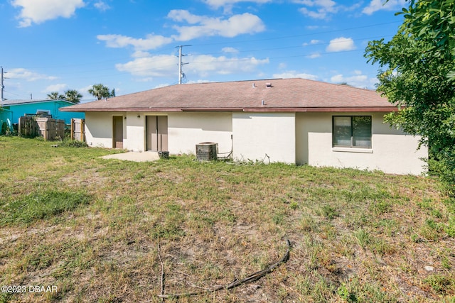
[[[68,106],[85,112],[87,144],[195,153],[218,143],[235,160],[419,175],[427,148],[383,122],[397,111],[368,89],[309,79],[183,84]]]

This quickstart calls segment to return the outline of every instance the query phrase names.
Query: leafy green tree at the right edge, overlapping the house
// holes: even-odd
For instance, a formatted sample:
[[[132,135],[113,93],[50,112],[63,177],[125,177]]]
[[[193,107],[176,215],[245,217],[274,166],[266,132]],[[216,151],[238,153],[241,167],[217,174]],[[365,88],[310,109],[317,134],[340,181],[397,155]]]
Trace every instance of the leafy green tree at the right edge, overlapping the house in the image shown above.
[[[404,22],[389,42],[368,43],[365,57],[378,63],[378,91],[401,110],[391,125],[422,136],[429,168],[455,184],[455,0],[410,0]]]

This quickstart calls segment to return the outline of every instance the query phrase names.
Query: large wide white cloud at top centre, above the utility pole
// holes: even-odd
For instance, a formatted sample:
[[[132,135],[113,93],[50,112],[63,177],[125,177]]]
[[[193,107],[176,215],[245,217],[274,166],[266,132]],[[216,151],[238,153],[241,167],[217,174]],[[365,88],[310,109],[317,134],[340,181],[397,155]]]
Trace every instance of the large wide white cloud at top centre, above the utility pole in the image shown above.
[[[173,21],[186,22],[191,26],[173,26],[180,35],[174,35],[177,41],[187,41],[199,37],[220,35],[232,38],[245,33],[259,33],[264,31],[265,26],[258,16],[251,13],[234,15],[228,19],[196,16],[185,10],[172,10],[168,18]]]

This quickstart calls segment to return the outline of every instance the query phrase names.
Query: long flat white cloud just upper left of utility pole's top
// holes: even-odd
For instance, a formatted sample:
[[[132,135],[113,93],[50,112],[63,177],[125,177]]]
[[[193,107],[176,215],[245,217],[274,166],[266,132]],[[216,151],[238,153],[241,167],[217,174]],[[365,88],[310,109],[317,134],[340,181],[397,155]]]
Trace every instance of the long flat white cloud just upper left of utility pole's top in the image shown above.
[[[149,34],[146,38],[131,38],[125,35],[97,35],[97,39],[105,41],[108,48],[125,48],[129,45],[135,50],[154,50],[168,43],[172,43],[172,38],[162,35]]]

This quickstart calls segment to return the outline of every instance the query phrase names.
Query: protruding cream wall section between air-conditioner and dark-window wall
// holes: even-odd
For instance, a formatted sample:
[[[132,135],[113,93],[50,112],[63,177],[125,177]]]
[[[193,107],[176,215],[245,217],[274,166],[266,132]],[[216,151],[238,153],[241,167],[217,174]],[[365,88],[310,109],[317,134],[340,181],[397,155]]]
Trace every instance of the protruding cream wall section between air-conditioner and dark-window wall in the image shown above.
[[[235,160],[294,163],[294,113],[232,113]],[[269,159],[266,157],[269,156]]]

